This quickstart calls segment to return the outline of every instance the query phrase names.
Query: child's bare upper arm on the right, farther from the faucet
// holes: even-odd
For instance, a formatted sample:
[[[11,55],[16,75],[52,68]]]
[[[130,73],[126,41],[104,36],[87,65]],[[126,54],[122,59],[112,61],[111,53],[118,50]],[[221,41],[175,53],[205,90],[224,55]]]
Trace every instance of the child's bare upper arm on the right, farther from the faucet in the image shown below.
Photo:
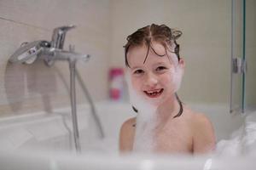
[[[193,135],[194,153],[210,153],[212,150],[215,149],[215,143],[215,135],[212,123],[207,119],[207,116],[198,114],[196,116]]]

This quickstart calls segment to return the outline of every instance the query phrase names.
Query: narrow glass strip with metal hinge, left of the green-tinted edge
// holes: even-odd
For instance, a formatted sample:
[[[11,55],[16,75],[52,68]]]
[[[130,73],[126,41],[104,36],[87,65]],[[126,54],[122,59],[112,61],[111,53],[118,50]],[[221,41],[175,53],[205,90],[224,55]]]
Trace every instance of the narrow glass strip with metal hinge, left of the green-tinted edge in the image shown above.
[[[231,79],[230,79],[230,113],[240,113],[243,108],[243,0],[231,1]]]

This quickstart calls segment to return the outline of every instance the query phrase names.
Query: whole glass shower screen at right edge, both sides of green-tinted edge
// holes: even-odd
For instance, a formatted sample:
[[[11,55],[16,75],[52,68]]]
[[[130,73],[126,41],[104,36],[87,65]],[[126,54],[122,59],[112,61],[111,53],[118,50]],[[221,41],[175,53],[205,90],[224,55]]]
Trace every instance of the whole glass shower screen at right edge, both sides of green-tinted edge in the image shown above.
[[[256,110],[256,1],[232,0],[230,112]]]

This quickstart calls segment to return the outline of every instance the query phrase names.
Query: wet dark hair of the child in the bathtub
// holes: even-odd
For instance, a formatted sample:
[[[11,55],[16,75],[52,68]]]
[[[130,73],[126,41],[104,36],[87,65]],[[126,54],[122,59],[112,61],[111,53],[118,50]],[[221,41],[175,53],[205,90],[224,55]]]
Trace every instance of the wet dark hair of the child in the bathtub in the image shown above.
[[[160,42],[165,48],[166,48],[166,54],[157,54],[160,57],[163,57],[165,55],[168,56],[167,51],[174,53],[177,55],[177,59],[180,59],[179,56],[179,44],[177,44],[177,38],[181,37],[182,31],[178,31],[176,29],[171,29],[166,25],[155,25],[152,24],[150,26],[145,26],[143,28],[138,29],[134,33],[132,33],[130,36],[126,38],[127,42],[124,46],[125,48],[125,65],[127,67],[130,67],[128,60],[127,60],[127,53],[129,51],[129,48],[131,47],[139,47],[146,45],[149,48],[151,48],[155,54],[156,51],[152,47],[152,41],[154,42]],[[174,48],[174,51],[171,49]],[[144,63],[146,59],[148,58],[148,51],[144,59]],[[175,94],[177,102],[180,106],[180,109],[176,116],[173,116],[174,118],[177,116],[181,116],[183,113],[183,104],[182,101],[178,98],[177,94]],[[133,111],[138,112],[137,109],[132,106]]]

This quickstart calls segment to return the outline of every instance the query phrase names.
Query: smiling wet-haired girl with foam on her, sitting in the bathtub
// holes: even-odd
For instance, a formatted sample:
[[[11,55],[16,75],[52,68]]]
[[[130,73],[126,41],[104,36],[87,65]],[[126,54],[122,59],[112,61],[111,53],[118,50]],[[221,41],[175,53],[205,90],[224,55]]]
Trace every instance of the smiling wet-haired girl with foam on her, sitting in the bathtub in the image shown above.
[[[120,151],[208,153],[214,149],[211,122],[189,110],[177,96],[184,70],[177,44],[181,35],[152,24],[127,37],[125,77],[137,116],[120,129]]]

